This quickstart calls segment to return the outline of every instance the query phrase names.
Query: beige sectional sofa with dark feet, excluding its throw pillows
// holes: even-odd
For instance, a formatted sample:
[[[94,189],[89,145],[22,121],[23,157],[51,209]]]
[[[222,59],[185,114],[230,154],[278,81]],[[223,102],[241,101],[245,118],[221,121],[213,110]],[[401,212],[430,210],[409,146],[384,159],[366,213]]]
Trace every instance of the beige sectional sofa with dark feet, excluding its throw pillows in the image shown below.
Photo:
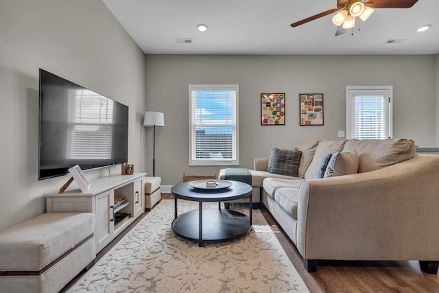
[[[296,150],[298,177],[272,174],[259,158],[252,185],[309,272],[319,259],[419,260],[436,274],[439,156],[416,154],[411,139],[312,141]],[[324,156],[340,152],[357,156],[357,172],[344,175],[341,161],[334,176],[318,178]]]

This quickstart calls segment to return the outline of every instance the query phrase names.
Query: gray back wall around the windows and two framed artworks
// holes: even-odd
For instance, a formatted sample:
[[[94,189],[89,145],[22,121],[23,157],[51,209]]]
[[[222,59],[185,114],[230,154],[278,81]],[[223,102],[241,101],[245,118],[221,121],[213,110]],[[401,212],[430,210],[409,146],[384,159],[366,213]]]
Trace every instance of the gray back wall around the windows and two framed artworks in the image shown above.
[[[392,85],[394,138],[434,145],[437,56],[146,56],[147,109],[165,113],[156,131],[156,176],[174,185],[186,174],[221,167],[189,167],[188,84],[239,84],[241,167],[271,148],[313,139],[339,139],[345,129],[346,86]],[[436,65],[435,65],[436,62]],[[438,78],[436,77],[436,84]],[[436,93],[435,93],[436,91]],[[261,126],[261,93],[285,93],[285,126]],[[324,94],[324,126],[299,126],[299,93]],[[152,173],[152,130],[147,130]]]

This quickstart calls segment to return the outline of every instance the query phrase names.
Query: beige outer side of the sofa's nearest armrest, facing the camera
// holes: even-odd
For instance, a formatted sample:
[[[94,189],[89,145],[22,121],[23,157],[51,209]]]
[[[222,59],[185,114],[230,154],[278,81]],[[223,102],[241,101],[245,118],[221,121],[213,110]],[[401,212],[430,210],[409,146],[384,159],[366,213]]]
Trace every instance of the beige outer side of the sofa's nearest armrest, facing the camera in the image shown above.
[[[303,182],[297,248],[306,259],[439,260],[439,156]]]

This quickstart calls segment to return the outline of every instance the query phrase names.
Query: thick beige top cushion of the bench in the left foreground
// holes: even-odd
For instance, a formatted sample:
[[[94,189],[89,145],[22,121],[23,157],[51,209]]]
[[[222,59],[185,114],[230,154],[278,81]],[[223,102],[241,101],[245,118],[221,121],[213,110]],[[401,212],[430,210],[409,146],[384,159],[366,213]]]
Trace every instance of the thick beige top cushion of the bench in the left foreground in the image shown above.
[[[93,213],[45,213],[0,231],[0,271],[38,271],[95,231]]]

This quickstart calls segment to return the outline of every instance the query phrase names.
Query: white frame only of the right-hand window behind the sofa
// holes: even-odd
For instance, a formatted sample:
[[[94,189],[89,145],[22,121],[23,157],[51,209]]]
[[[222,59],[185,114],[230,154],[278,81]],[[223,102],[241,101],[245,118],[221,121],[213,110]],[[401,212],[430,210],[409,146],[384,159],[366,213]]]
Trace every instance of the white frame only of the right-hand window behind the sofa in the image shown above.
[[[383,95],[388,97],[387,138],[393,138],[393,86],[346,86],[346,139],[355,139],[355,96]]]

